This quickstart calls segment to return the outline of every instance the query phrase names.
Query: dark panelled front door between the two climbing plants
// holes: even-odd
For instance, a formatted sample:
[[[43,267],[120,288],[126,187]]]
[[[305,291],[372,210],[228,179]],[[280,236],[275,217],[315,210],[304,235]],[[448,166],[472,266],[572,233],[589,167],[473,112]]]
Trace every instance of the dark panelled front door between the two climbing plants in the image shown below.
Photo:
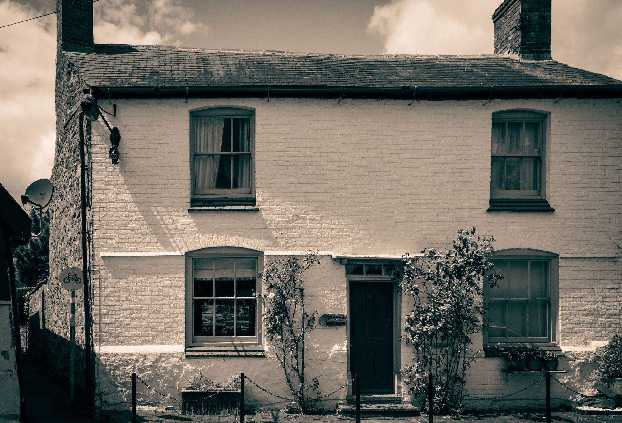
[[[350,373],[361,391],[393,391],[393,284],[350,282]]]

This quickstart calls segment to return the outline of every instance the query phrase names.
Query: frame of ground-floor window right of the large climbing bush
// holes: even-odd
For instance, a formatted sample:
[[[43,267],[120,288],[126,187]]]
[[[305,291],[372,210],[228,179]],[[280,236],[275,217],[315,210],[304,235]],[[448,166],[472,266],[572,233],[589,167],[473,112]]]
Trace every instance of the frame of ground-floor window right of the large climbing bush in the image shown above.
[[[540,251],[536,249],[516,248],[496,251],[491,261],[547,261],[548,275],[547,275],[547,294],[549,299],[549,322],[548,331],[549,337],[546,338],[506,338],[506,337],[491,337],[488,330],[484,330],[484,344],[496,344],[501,343],[502,346],[557,346],[557,326],[559,325],[559,259],[557,254],[548,253],[546,251]],[[493,268],[493,272],[497,271],[496,267]],[[489,304],[490,302],[490,286],[488,284],[483,285],[483,302]],[[494,288],[493,288],[494,289]],[[513,300],[513,299],[508,299]],[[525,300],[525,299],[516,299]],[[528,299],[527,299],[528,300]],[[485,315],[488,318],[488,314]],[[509,318],[509,316],[507,317]]]

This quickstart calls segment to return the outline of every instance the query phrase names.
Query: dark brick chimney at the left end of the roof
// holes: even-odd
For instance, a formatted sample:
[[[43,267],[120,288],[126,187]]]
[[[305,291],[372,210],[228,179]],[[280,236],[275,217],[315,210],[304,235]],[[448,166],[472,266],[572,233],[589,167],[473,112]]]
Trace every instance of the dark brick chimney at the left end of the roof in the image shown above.
[[[56,0],[58,52],[93,52],[93,0]]]

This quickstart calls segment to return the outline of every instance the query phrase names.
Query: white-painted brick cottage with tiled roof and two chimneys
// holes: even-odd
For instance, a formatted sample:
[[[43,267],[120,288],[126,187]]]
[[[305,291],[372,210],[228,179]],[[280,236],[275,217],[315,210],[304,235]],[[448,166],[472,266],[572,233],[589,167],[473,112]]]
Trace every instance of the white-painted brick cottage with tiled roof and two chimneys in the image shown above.
[[[88,18],[58,16],[57,195],[40,291],[46,329],[67,338],[57,279],[80,266],[77,111],[89,90],[104,109],[116,104],[106,119],[122,136],[114,165],[106,126],[85,124],[103,407],[129,399],[134,371],[174,397],[198,371],[216,381],[245,372],[290,396],[253,292],[264,292],[262,263],[309,249],[321,264],[305,276],[307,307],[347,323],[309,334],[308,377],[328,393],[361,373],[369,392],[410,401],[399,370],[412,351],[399,337],[412,305],[384,265],[450,246],[473,225],[496,239],[509,282],[486,292],[493,327],[474,339],[465,392],[498,396],[540,377],[502,373],[503,360],[483,352],[496,342],[559,352],[560,379],[589,389],[598,347],[622,327],[622,82],[550,60],[550,1],[504,1],[495,54],[472,56],[93,44],[83,7]],[[368,337],[386,348],[376,358],[349,347],[378,322]],[[571,394],[552,386],[554,406]],[[321,406],[345,401],[337,395]],[[160,401],[146,390],[139,399]],[[275,401],[248,389],[247,404]],[[542,384],[465,399],[477,409],[543,402]]]

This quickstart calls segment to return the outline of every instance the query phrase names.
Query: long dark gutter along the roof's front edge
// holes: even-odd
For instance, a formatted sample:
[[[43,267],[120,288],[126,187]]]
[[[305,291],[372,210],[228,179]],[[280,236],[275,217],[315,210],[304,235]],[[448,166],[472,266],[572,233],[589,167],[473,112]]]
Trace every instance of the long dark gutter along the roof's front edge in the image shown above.
[[[93,86],[99,98],[368,98],[390,100],[493,100],[622,98],[622,85],[582,86]]]

